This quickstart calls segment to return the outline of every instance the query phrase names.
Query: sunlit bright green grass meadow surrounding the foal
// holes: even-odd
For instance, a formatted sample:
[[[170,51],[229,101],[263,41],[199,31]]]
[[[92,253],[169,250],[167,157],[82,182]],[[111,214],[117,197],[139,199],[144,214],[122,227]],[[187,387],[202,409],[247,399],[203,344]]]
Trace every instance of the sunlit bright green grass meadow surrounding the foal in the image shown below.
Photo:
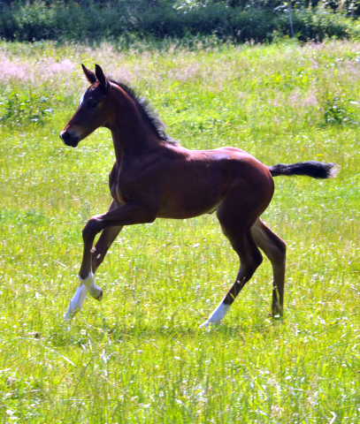
[[[105,129],[76,149],[58,138],[88,87],[80,63],[137,87],[187,148],[341,165],[275,180],[263,217],[288,246],[281,321],[264,260],[224,323],[198,329],[238,269],[216,216],[126,227],[96,274],[103,302],[63,321],[114,160]],[[1,422],[359,422],[359,77],[351,42],[1,43]]]

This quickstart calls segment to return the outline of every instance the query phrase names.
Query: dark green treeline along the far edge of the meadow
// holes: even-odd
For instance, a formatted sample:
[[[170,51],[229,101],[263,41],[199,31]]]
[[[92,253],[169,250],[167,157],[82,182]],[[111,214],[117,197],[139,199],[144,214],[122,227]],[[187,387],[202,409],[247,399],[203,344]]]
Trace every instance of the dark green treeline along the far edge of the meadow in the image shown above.
[[[295,36],[302,40],[358,38],[360,2],[293,1]],[[9,41],[100,41],[134,34],[184,38],[215,35],[234,42],[272,41],[292,34],[280,0],[0,1],[0,37]]]

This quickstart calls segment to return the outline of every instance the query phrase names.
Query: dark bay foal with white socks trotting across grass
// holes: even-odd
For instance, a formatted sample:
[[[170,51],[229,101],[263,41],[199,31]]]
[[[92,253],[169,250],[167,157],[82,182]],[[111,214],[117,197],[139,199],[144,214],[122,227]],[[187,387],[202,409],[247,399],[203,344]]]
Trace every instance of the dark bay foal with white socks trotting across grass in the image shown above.
[[[335,165],[305,162],[268,167],[239,148],[182,148],[165,134],[161,122],[131,88],[107,79],[97,64],[96,72],[84,65],[82,70],[91,86],[60,138],[75,148],[96,128],[109,128],[116,161],[109,177],[113,199],[110,209],[90,218],[82,231],[80,286],[65,319],[81,309],[87,292],[97,300],[103,299],[94,274],[124,225],[152,223],[156,218],[191,218],[215,211],[222,231],[239,256],[240,269],[233,286],[202,326],[222,322],[263,261],[259,248],[272,262],[272,314],[282,314],[286,245],[260,219],[272,200],[272,177],[331,178],[336,173]]]

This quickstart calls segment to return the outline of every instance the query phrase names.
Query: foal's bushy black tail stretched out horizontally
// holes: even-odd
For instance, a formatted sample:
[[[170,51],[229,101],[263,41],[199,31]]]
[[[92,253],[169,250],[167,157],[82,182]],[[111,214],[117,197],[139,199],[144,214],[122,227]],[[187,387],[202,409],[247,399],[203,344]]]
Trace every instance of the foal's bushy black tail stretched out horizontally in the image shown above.
[[[322,163],[317,161],[292,163],[286,165],[279,163],[278,165],[269,166],[272,177],[280,175],[307,175],[312,178],[333,178],[339,172],[339,166],[335,163]]]

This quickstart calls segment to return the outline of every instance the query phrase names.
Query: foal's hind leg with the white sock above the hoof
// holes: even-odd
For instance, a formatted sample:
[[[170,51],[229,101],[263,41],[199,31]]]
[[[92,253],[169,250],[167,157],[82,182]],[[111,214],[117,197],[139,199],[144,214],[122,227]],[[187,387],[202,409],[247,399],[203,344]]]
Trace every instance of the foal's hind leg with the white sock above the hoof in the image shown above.
[[[240,269],[232,288],[201,327],[208,327],[210,324],[219,324],[223,321],[226,312],[234,303],[242,287],[249,281],[263,261],[263,256],[251,234],[251,225],[254,221],[248,213],[241,214],[241,207],[236,208],[235,205],[232,208],[219,208],[218,220],[222,231],[239,256]]]

